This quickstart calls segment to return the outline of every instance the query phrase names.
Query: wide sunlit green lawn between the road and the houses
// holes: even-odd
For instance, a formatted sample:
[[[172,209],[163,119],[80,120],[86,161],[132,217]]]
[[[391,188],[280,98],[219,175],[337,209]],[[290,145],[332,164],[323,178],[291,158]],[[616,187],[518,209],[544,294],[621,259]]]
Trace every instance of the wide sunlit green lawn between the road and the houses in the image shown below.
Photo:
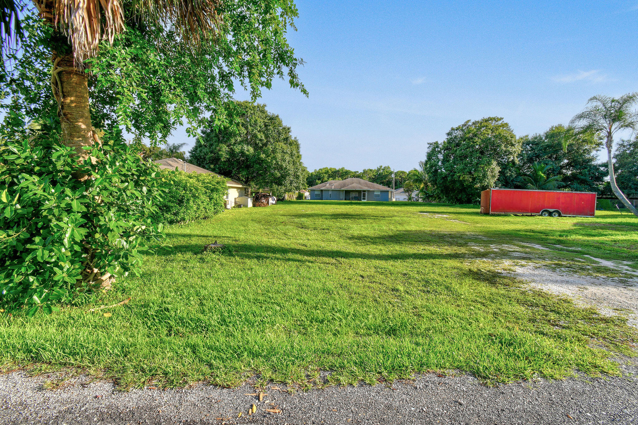
[[[488,382],[618,373],[609,357],[631,354],[637,338],[622,317],[525,289],[480,249],[545,245],[553,250],[528,247],[526,258],[575,273],[584,271],[576,257],[592,262],[585,254],[638,267],[638,219],[597,215],[343,201],[231,210],[169,227],[172,247],[107,294],[50,316],[3,313],[0,363],[77,366],[122,387],[237,385],[251,375],[322,385],[320,370],[332,384],[454,369]],[[202,252],[214,240],[226,249]]]

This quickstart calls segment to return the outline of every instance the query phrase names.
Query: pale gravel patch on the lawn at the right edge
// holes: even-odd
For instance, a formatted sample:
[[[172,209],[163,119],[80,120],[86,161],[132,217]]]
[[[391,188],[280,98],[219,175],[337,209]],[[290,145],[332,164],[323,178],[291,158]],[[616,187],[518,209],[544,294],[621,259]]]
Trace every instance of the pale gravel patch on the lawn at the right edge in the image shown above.
[[[579,276],[538,264],[514,266],[514,275],[535,288],[568,296],[581,305],[595,306],[605,315],[618,314],[616,309],[628,310],[627,324],[638,328],[638,277]]]

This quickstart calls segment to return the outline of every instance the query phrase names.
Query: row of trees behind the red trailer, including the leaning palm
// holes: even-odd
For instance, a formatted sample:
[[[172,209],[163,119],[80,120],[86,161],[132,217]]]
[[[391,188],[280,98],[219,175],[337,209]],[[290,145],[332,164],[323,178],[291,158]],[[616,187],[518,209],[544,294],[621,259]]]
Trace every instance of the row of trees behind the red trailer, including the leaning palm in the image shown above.
[[[638,198],[638,139],[614,147],[613,136],[637,129],[630,109],[637,99],[637,94],[592,97],[567,126],[533,136],[517,137],[501,117],[468,120],[450,129],[445,140],[431,143],[419,169],[412,170],[424,177],[420,197],[477,203],[480,192],[490,187],[554,189],[616,196],[633,211],[625,194]],[[602,148],[607,162],[597,159]]]

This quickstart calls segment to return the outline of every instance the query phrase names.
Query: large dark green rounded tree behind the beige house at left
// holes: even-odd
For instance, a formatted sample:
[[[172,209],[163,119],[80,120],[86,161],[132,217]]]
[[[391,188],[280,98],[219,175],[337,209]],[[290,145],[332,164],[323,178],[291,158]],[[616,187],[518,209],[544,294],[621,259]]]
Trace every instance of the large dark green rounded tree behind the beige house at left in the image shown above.
[[[228,109],[233,112],[223,119],[234,119],[234,126],[216,127],[220,117],[211,117],[189,152],[190,161],[251,187],[278,192],[303,189],[308,170],[301,162],[299,141],[279,115],[248,101],[234,102]]]

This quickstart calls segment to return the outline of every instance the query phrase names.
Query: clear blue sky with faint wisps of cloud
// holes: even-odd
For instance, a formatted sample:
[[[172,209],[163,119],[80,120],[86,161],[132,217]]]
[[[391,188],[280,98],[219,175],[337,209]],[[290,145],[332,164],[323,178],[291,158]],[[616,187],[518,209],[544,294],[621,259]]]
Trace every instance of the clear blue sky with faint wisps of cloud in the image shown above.
[[[540,133],[595,94],[638,90],[638,1],[297,7],[288,40],[309,97],[278,80],[259,102],[292,127],[311,171],[408,170],[465,120],[496,115],[519,136]],[[170,141],[193,144],[183,129]]]

